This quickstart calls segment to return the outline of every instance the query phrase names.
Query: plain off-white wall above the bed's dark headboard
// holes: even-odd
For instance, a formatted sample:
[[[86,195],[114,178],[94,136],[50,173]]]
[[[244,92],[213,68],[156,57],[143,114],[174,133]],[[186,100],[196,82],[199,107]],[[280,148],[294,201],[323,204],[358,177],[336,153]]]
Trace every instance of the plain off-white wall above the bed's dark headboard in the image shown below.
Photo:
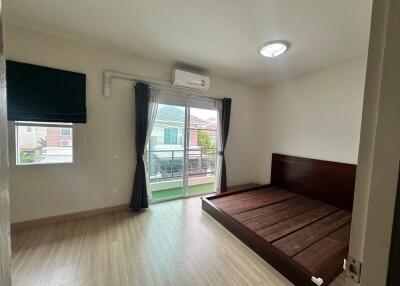
[[[257,100],[260,183],[272,153],[357,163],[365,62],[354,62],[261,89]]]

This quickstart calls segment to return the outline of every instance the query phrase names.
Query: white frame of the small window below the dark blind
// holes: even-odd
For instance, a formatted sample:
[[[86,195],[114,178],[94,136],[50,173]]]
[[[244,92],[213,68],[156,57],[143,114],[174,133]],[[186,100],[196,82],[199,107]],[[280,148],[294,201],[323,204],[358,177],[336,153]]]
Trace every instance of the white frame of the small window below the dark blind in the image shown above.
[[[76,124],[70,122],[33,122],[33,121],[11,121],[10,127],[14,132],[14,136],[10,136],[14,138],[14,142],[12,142],[14,156],[14,166],[17,168],[21,167],[45,167],[45,166],[54,166],[54,165],[75,165],[76,163]],[[53,163],[29,163],[29,164],[19,164],[19,154],[18,154],[18,127],[19,126],[28,126],[28,127],[58,127],[58,128],[71,128],[71,136],[72,137],[72,161],[71,162],[53,162]],[[61,134],[61,131],[60,131]],[[61,135],[60,135],[61,136]]]

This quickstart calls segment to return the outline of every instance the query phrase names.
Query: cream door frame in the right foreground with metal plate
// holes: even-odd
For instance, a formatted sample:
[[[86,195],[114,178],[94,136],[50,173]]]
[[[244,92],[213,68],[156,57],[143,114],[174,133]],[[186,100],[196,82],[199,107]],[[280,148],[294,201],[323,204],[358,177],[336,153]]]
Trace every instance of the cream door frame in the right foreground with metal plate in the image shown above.
[[[387,274],[391,244],[399,243],[391,241],[400,195],[399,15],[398,0],[374,1],[349,249],[363,263],[361,286],[398,285],[398,273]]]

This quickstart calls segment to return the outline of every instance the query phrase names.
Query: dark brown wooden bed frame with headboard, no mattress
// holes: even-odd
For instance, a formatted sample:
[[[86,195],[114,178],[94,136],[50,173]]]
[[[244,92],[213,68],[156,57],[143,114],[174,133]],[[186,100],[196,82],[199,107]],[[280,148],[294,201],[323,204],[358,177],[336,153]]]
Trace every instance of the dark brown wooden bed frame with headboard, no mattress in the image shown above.
[[[295,285],[328,285],[347,257],[356,165],[272,154],[271,184],[202,208]]]

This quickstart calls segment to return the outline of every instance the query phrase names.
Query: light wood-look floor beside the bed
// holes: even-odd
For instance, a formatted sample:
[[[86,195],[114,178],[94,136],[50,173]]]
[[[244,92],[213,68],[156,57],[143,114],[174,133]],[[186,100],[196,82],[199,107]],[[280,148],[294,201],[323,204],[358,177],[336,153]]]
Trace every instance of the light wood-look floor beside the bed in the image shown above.
[[[12,251],[14,286],[292,285],[199,198],[21,230]]]

